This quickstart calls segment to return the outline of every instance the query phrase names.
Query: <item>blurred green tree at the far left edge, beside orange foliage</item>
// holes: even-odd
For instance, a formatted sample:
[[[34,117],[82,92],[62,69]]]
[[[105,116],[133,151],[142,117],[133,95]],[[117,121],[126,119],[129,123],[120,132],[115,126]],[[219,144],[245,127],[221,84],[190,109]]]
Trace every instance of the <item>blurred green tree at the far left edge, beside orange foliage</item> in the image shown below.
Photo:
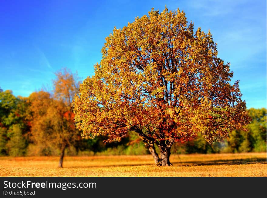
[[[26,120],[27,99],[15,97],[12,91],[0,91],[0,150],[1,154],[26,154],[29,125]],[[21,140],[21,143],[18,141]]]

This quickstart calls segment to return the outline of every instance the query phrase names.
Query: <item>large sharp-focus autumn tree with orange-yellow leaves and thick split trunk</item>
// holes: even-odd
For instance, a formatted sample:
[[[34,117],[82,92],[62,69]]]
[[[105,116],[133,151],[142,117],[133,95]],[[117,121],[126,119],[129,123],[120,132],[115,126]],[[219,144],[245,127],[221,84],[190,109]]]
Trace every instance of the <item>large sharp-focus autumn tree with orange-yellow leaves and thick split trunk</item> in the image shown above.
[[[242,129],[250,118],[238,81],[230,84],[230,64],[217,57],[210,31],[193,27],[184,12],[166,8],[114,28],[95,75],[74,99],[83,136],[105,134],[111,141],[134,131],[155,163],[169,166],[174,142],[199,132],[213,143]]]

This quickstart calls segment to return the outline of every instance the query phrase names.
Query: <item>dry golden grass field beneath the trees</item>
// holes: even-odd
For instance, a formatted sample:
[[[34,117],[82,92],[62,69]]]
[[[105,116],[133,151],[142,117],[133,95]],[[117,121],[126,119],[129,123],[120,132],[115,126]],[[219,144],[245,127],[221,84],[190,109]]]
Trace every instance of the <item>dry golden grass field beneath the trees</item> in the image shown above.
[[[171,155],[156,167],[150,155],[0,157],[1,177],[267,177],[266,153]]]

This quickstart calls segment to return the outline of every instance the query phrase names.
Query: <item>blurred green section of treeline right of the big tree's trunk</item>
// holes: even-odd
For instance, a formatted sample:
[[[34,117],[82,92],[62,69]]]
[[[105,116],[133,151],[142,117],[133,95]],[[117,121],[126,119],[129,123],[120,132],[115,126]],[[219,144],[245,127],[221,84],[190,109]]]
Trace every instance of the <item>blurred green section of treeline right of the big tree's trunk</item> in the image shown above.
[[[204,137],[198,134],[194,141],[173,146],[173,153],[243,153],[266,152],[266,108],[248,109],[252,122],[244,126],[245,130],[233,130],[227,139],[207,144]]]

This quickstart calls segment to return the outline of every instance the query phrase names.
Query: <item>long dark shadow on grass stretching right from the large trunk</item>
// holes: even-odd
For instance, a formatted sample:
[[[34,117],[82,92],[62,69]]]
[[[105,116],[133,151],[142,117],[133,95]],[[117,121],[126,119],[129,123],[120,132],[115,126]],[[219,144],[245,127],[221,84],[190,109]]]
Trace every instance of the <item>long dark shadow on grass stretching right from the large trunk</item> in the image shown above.
[[[234,160],[211,160],[211,161],[185,161],[175,162],[174,165],[178,166],[209,166],[209,165],[236,165],[236,164],[266,164],[266,158],[252,158],[252,159],[234,159]]]

